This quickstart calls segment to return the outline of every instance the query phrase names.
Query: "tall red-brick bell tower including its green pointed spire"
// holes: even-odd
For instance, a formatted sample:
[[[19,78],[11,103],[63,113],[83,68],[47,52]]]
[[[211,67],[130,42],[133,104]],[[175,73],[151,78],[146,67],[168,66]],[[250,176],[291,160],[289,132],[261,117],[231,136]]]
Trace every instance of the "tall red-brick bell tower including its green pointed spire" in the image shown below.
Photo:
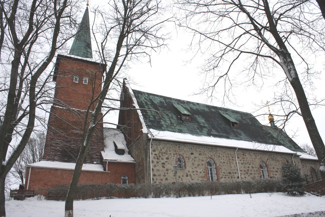
[[[69,55],[57,56],[53,76],[56,82],[54,102],[47,125],[43,160],[76,162],[83,143],[86,111],[89,110],[91,115],[97,104],[91,102],[102,88],[102,69],[102,64],[92,61],[87,7]],[[99,124],[84,163],[102,163],[100,151],[104,147],[103,141],[103,124]]]

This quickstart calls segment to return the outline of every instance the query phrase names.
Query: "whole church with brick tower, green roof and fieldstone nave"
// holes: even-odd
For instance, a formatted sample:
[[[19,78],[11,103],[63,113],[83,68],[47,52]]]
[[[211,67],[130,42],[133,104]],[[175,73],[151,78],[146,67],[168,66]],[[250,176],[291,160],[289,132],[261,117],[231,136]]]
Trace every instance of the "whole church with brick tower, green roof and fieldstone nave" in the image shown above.
[[[46,195],[70,184],[103,67],[92,59],[86,8],[69,55],[57,56],[44,158],[26,166],[25,189]],[[179,182],[279,178],[286,160],[302,175],[319,170],[318,159],[279,130],[271,114],[265,126],[249,113],[132,89],[126,79],[120,103],[118,129],[97,125],[79,184],[174,183],[174,165]]]

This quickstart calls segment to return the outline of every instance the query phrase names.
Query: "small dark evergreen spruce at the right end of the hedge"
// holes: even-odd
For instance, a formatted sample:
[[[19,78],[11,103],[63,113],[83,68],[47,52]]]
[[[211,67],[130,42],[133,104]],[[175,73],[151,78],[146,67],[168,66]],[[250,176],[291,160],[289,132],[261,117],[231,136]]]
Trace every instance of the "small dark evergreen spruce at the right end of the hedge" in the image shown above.
[[[300,169],[297,166],[293,165],[292,162],[287,160],[287,162],[282,164],[281,173],[282,186],[287,194],[291,194],[292,196],[304,194],[304,178],[301,176]]]

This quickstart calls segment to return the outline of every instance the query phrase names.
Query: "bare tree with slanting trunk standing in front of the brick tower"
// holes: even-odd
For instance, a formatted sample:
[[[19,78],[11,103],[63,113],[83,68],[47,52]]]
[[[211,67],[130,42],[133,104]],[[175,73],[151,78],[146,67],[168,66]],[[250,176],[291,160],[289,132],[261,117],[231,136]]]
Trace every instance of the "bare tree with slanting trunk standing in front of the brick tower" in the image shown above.
[[[83,130],[83,144],[73,172],[72,181],[65,202],[65,216],[73,216],[73,198],[80,177],[82,165],[91,140],[100,122],[103,102],[113,85],[114,79],[121,72],[128,61],[136,60],[140,56],[148,56],[150,51],[163,46],[166,34],[161,33],[162,23],[159,20],[160,2],[154,0],[122,0],[110,1],[105,10],[95,9],[96,19],[100,19],[98,28],[93,33],[97,41],[100,61],[108,66],[103,69],[104,82],[102,90],[95,96],[90,105],[96,103],[93,112],[86,112]],[[158,19],[158,21],[157,21]],[[100,36],[99,36],[100,35]],[[107,110],[104,115],[110,112]],[[86,123],[90,121],[89,125]]]

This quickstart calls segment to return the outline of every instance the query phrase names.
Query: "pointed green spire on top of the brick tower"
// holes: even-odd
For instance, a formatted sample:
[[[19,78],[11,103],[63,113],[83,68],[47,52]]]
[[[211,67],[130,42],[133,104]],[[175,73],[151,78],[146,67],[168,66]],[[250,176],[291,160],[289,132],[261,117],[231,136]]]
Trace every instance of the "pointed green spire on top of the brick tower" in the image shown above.
[[[69,54],[83,58],[93,58],[88,7],[85,10]]]

